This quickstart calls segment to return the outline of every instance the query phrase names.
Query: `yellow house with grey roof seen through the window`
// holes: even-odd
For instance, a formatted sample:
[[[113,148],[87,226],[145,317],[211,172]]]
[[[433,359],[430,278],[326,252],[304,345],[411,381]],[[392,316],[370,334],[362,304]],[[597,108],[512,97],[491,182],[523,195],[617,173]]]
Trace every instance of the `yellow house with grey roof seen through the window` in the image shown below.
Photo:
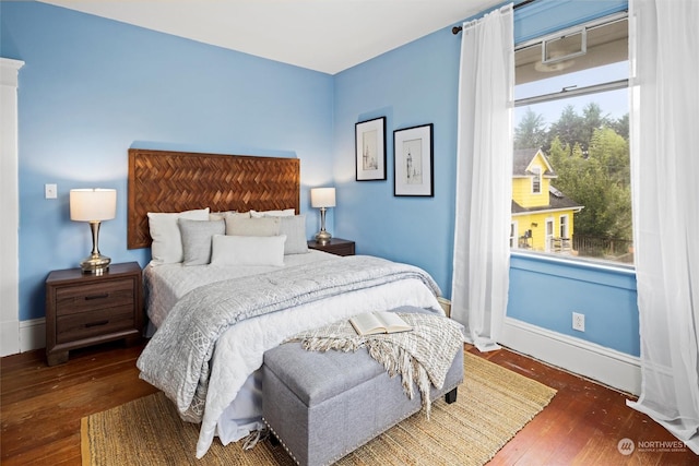
[[[513,155],[510,247],[570,253],[573,214],[583,206],[552,186],[557,175],[541,150]]]

